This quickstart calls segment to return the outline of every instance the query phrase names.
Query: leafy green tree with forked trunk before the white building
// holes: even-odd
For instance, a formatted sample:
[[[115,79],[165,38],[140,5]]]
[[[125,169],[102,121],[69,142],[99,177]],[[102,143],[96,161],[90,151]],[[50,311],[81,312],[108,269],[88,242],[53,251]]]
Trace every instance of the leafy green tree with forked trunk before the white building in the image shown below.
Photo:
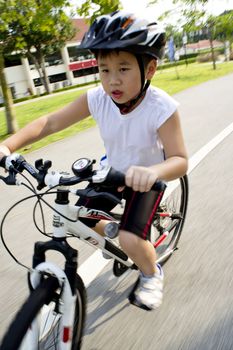
[[[23,54],[33,61],[46,92],[50,93],[44,57],[63,47],[75,34],[72,21],[65,13],[65,8],[70,6],[70,2],[67,0],[16,2],[19,12],[27,18],[27,21],[15,23],[14,35],[22,38]]]

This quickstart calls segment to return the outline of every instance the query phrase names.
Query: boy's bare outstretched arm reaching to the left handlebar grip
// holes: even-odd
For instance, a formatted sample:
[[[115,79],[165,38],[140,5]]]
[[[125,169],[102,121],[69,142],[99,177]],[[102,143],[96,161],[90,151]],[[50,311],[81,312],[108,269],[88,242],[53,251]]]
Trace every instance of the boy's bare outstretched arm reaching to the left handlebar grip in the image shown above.
[[[21,147],[63,130],[89,115],[87,94],[84,94],[61,110],[34,120],[16,134],[3,141],[0,144],[0,159],[4,155],[9,155]]]

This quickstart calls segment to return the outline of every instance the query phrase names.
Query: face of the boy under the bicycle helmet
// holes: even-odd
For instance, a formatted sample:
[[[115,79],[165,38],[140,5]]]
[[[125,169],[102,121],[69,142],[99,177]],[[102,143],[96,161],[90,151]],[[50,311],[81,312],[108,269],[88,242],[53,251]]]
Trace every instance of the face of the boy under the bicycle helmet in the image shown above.
[[[128,52],[112,52],[98,57],[100,80],[105,92],[117,103],[126,103],[141,89],[141,73],[136,57]]]

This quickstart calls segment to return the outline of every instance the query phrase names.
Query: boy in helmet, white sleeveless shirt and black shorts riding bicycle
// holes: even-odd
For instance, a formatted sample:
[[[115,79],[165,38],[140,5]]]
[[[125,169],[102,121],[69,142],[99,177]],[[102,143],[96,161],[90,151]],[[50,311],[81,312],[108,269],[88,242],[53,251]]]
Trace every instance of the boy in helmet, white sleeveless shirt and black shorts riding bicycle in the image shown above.
[[[163,289],[163,272],[155,265],[155,250],[147,240],[157,198],[151,187],[158,179],[173,180],[187,171],[177,103],[149,86],[164,46],[165,34],[157,23],[123,11],[97,18],[81,47],[94,52],[102,86],[30,123],[0,145],[0,157],[9,155],[93,115],[109,165],[126,175],[126,188],[119,189],[126,198],[119,239],[140,270],[135,302],[148,309],[161,304]]]

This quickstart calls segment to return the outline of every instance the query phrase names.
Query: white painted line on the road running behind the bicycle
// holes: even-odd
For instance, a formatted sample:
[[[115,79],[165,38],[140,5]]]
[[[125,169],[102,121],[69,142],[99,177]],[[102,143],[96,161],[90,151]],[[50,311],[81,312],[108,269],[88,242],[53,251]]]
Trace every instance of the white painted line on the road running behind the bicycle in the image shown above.
[[[199,151],[197,151],[189,159],[188,174],[190,174],[201,163],[201,161],[232,132],[233,123],[231,123],[217,136],[215,136],[210,142],[208,142]],[[172,193],[172,191],[175,190],[178,184],[178,180],[171,181],[168,183],[168,187],[165,192],[166,196],[164,196],[164,199],[167,198]],[[103,258],[101,250],[96,250],[95,253],[93,253],[88,259],[86,259],[82,265],[80,265],[78,273],[82,277],[86,287],[90,285],[90,283],[98,276],[98,274],[110,261],[112,260],[107,260]]]

